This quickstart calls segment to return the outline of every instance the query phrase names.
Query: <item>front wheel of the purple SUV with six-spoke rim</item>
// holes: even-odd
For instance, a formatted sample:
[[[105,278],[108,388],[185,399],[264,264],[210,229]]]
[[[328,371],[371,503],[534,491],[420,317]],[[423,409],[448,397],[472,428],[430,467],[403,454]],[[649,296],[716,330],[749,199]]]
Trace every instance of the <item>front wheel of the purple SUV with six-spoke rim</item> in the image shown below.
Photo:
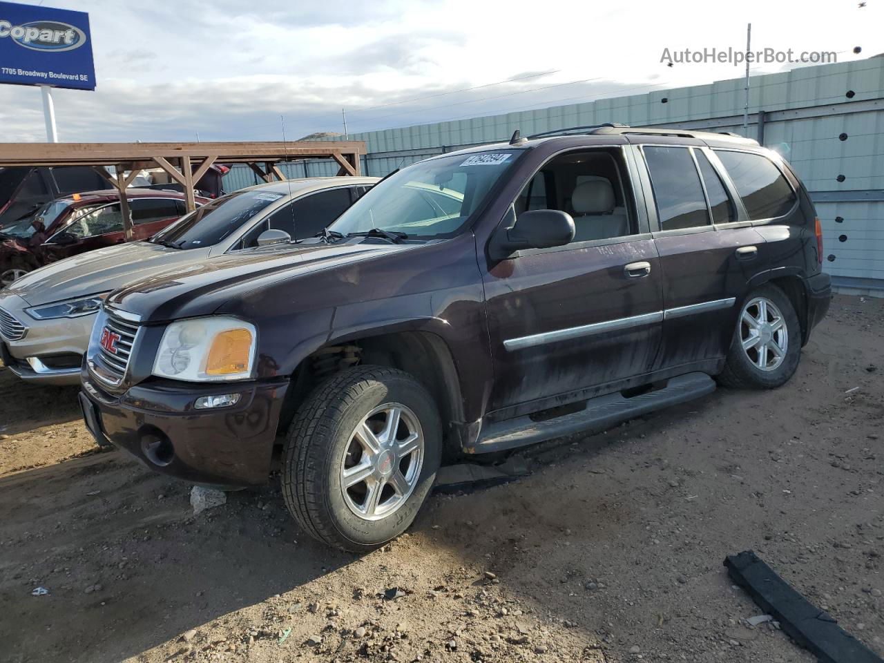
[[[301,404],[283,454],[286,505],[304,530],[352,552],[398,537],[436,479],[438,409],[414,377],[361,366]]]

